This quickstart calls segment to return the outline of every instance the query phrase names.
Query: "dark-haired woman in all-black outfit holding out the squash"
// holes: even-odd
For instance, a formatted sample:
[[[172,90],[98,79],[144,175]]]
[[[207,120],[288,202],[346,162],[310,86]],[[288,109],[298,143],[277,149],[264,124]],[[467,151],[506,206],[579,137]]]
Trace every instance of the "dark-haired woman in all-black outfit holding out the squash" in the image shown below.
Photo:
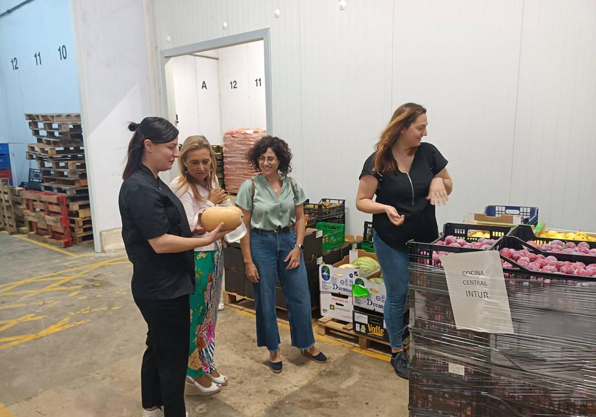
[[[226,232],[222,224],[206,238],[193,238],[182,203],[158,176],[179,155],[178,130],[161,117],[145,117],[128,128],[134,135],[119,206],[122,238],[133,265],[132,296],[148,326],[141,365],[143,416],[185,417],[193,249]]]

